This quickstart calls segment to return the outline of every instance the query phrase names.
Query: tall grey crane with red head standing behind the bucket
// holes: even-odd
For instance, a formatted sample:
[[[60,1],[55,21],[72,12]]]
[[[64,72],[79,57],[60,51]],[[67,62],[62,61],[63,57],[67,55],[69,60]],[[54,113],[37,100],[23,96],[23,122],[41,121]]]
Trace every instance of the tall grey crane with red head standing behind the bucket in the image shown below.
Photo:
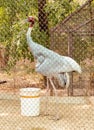
[[[28,22],[30,23],[30,26],[27,31],[27,43],[34,56],[34,59],[37,61],[35,65],[35,71],[44,76],[47,76],[54,89],[55,95],[57,95],[56,87],[52,81],[52,78],[55,77],[61,86],[66,84],[66,87],[68,87],[68,72],[76,71],[78,73],[81,73],[81,67],[72,58],[59,55],[58,53],[34,42],[31,37],[31,31],[35,23],[34,17],[29,16]],[[47,91],[48,90],[49,85],[47,85]]]

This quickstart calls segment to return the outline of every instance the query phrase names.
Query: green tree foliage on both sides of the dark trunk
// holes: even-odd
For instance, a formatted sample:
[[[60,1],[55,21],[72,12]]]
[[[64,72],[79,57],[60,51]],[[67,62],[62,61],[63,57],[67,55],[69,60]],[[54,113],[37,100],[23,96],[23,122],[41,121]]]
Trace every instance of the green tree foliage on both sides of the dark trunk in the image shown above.
[[[53,0],[53,3],[47,0],[45,11],[48,14],[49,29],[74,11],[77,7],[74,5],[73,1],[68,0]],[[28,24],[23,25],[23,20],[29,15],[38,19],[38,0],[0,0],[0,44],[6,49],[8,70],[21,58],[33,60],[26,42]],[[40,32],[38,20],[32,37],[35,42],[49,47],[49,36],[44,31]]]

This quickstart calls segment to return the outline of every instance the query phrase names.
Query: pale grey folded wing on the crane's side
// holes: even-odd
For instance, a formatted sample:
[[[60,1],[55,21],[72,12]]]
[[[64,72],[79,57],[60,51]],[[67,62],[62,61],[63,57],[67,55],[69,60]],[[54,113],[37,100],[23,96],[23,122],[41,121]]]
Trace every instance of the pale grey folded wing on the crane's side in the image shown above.
[[[79,64],[70,57],[60,56],[54,53],[54,55],[50,55],[50,57],[45,57],[45,60],[36,71],[45,75],[45,76],[53,76],[57,73],[65,73],[77,71],[81,73],[81,67]]]

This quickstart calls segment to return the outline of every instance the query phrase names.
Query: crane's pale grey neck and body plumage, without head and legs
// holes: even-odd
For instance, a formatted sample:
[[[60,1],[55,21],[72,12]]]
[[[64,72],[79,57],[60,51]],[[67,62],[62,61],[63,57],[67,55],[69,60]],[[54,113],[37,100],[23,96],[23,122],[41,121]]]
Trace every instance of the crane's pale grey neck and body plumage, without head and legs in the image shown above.
[[[59,73],[77,71],[81,73],[81,67],[72,58],[61,56],[52,50],[49,50],[42,45],[33,42],[31,38],[32,28],[30,27],[27,32],[27,42],[37,59],[36,72],[39,72],[47,77],[53,77]]]

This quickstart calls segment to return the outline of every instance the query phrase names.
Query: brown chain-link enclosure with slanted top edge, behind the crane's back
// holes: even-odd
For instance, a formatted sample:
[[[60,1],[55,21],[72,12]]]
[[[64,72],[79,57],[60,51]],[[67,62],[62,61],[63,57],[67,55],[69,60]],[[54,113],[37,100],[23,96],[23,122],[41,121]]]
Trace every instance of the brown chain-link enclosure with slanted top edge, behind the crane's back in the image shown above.
[[[81,95],[94,93],[93,90],[89,92],[94,87],[94,9],[91,3],[92,1],[87,1],[51,30],[51,48],[74,58],[82,66],[83,73],[80,77],[73,74],[70,91],[73,94],[74,89],[74,95],[78,95],[76,87],[81,89]]]

